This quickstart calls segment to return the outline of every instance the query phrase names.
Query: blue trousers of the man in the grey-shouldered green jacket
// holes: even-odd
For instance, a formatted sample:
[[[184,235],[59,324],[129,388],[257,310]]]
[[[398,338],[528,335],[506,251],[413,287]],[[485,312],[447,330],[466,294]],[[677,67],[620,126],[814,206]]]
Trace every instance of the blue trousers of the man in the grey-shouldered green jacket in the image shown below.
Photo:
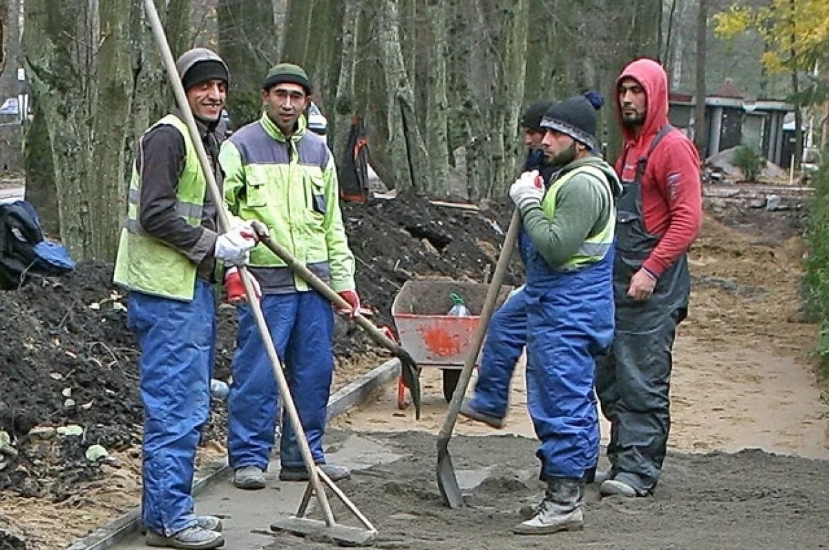
[[[324,464],[322,437],[334,368],[331,303],[316,291],[266,294],[262,311],[314,461]],[[239,336],[228,395],[230,467],[266,470],[274,446],[279,388],[250,306],[240,306],[238,312]],[[282,422],[279,458],[284,467],[303,467],[287,413]]]

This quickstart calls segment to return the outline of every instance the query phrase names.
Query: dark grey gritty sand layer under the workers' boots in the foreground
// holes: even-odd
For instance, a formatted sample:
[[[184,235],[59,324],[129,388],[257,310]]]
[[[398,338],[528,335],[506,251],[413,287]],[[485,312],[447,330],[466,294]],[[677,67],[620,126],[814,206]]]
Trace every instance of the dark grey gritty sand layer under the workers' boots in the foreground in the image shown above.
[[[350,432],[353,434],[353,432]],[[347,437],[355,437],[346,434]],[[434,437],[426,432],[361,434],[364,446],[396,461],[356,470],[340,484],[379,530],[376,548],[825,548],[829,540],[829,461],[763,451],[708,455],[672,452],[654,497],[585,496],[584,531],[519,537],[519,510],[536,504],[535,441],[525,437],[457,437],[450,445],[458,478],[481,475],[465,490],[467,507],[448,509],[434,483]],[[336,439],[336,436],[332,439]],[[337,444],[334,443],[336,446]],[[462,481],[463,484],[463,481]],[[349,519],[341,505],[335,513]],[[353,523],[352,523],[353,524]],[[315,536],[275,537],[269,549],[332,548]]]

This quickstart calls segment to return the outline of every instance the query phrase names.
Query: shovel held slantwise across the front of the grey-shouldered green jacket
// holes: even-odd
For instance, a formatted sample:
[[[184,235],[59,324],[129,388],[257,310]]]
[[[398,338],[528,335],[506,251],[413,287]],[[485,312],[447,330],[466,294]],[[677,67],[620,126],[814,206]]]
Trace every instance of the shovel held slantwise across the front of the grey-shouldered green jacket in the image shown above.
[[[288,265],[288,268],[293,270],[293,273],[298,274],[298,276],[302,277],[305,282],[308,282],[314,290],[322,294],[322,296],[327,297],[327,299],[332,302],[334,306],[341,309],[349,309],[351,307],[351,305],[346,302],[342,296],[337,294],[332,287],[329,287],[326,282],[317,277],[310,269],[305,267],[303,263],[299,263],[296,258],[293,258],[287,248],[274,241],[274,239],[271,239],[268,229],[265,228],[261,222],[255,221],[252,225],[259,237],[259,242],[264,244],[271,252],[279,256],[279,258],[281,258],[282,261]],[[405,384],[406,388],[409,388],[412,395],[412,403],[414,403],[414,418],[419,420],[420,368],[418,364],[414,361],[414,358],[409,355],[409,352],[404,350],[394,340],[391,340],[382,330],[378,329],[371,321],[366,319],[365,316],[361,315],[359,311],[354,312],[354,322],[356,322],[361,329],[366,330],[372,340],[390,350],[395,357],[400,359],[400,372],[403,374],[403,384]]]

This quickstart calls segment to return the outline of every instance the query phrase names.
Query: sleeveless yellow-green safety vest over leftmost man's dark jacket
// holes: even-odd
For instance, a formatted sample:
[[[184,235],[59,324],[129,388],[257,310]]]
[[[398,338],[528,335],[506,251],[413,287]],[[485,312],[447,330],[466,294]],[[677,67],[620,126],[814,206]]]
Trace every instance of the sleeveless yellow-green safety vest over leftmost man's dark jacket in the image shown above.
[[[187,154],[177,187],[176,210],[187,224],[201,224],[206,180],[201,171],[196,149],[187,131],[187,125],[175,115],[153,124],[148,132],[161,124],[176,128],[184,138]],[[152,169],[144,166],[144,170]],[[146,234],[138,223],[141,176],[133,165],[129,182],[127,220],[121,229],[118,256],[115,260],[114,282],[129,290],[156,296],[190,301],[196,287],[196,263],[177,249]]]

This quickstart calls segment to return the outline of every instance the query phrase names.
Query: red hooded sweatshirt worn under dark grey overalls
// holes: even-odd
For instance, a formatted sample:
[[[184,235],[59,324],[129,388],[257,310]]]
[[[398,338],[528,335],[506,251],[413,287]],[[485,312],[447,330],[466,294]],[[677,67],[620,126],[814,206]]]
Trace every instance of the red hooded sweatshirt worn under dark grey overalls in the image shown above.
[[[639,157],[645,155],[653,137],[668,123],[667,75],[662,65],[649,59],[635,60],[619,75],[617,87],[628,77],[645,90],[647,114],[638,136],[622,124],[624,142],[616,172],[623,181],[633,181]],[[616,108],[621,123],[618,94]],[[662,237],[642,267],[659,277],[686,253],[702,222],[700,157],[694,144],[679,131],[662,137],[648,157],[642,176],[642,214],[647,232]]]

